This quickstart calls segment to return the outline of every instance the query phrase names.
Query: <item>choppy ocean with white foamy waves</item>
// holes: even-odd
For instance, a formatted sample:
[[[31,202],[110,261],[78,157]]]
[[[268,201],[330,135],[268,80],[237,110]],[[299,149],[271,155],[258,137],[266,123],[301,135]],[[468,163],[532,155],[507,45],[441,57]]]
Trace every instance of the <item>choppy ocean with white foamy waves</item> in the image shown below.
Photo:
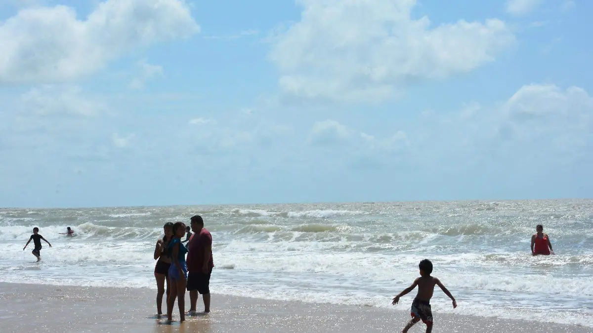
[[[212,293],[393,308],[428,258],[458,303],[437,287],[433,312],[593,327],[593,200],[0,209],[0,281],[156,289],[162,225],[194,214]],[[537,224],[556,255],[531,256]],[[34,226],[53,245],[39,264],[23,251]]]

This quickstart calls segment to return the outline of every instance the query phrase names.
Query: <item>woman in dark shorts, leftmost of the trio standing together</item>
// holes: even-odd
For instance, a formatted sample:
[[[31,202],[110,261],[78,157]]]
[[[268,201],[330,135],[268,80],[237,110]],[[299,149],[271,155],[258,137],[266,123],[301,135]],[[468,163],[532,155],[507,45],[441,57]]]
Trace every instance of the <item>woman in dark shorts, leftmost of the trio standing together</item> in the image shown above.
[[[165,281],[167,282],[167,298],[169,297],[171,257],[165,250],[173,238],[173,223],[165,223],[162,229],[165,235],[157,241],[157,246],[154,249],[154,260],[157,260],[157,265],[154,267],[154,277],[157,279],[157,313],[159,316],[162,315],[162,295],[165,294]]]

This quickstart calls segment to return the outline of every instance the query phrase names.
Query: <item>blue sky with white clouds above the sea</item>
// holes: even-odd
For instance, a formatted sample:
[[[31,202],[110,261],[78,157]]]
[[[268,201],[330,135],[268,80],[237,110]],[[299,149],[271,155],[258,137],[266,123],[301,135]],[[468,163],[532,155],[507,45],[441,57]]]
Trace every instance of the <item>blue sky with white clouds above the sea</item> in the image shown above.
[[[0,207],[591,198],[591,12],[0,0]]]

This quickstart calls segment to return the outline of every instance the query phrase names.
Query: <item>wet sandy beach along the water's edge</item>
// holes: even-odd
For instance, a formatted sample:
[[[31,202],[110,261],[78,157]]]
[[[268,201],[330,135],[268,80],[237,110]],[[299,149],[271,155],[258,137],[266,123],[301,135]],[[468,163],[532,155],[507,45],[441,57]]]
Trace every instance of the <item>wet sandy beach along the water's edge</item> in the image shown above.
[[[154,297],[151,289],[0,283],[2,332],[400,332],[409,319],[398,309],[213,294],[211,313],[167,325],[155,315]],[[466,316],[463,305],[458,309],[458,315],[435,313],[433,332],[593,332],[583,326]],[[174,313],[178,319],[177,307]],[[424,329],[417,325],[410,332]]]

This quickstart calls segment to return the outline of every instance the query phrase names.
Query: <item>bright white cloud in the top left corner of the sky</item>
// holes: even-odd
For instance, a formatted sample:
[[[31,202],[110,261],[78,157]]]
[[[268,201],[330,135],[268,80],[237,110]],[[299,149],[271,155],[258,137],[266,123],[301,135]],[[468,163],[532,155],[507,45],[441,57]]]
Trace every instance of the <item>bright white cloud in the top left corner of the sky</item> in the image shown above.
[[[63,5],[22,9],[0,23],[0,83],[72,81],[132,49],[199,30],[181,0],[107,0],[85,20]]]

